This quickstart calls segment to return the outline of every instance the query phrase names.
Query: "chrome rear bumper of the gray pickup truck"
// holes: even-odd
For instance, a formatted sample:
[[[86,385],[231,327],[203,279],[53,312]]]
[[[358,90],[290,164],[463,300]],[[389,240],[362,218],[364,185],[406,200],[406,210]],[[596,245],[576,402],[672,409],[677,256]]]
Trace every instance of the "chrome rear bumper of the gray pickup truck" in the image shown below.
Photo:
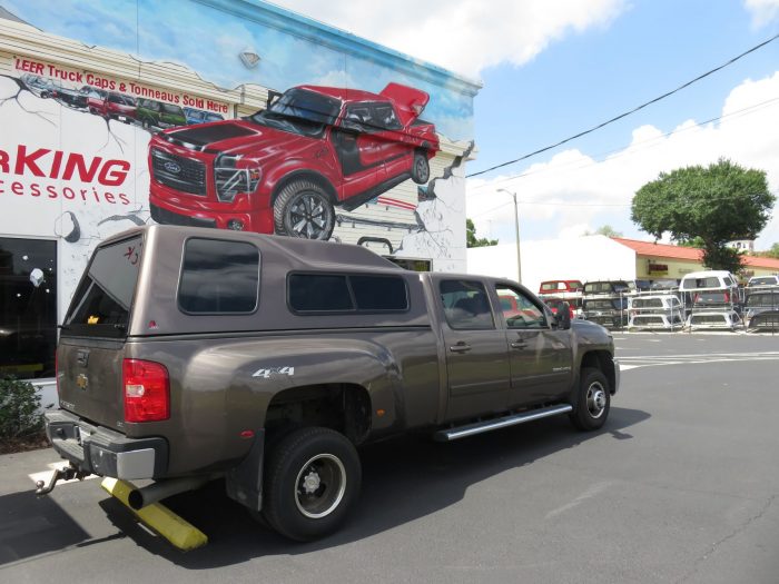
[[[165,438],[128,438],[62,409],[43,414],[46,435],[57,453],[79,469],[115,478],[159,478],[168,464]]]

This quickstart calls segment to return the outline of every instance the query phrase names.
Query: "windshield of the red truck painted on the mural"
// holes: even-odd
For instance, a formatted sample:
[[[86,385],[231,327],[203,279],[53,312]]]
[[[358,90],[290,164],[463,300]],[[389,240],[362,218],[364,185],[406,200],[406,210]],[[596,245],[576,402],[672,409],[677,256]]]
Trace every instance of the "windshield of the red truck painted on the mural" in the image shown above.
[[[341,102],[337,99],[305,89],[290,89],[249,120],[277,130],[318,138],[327,126],[335,123],[339,111]]]

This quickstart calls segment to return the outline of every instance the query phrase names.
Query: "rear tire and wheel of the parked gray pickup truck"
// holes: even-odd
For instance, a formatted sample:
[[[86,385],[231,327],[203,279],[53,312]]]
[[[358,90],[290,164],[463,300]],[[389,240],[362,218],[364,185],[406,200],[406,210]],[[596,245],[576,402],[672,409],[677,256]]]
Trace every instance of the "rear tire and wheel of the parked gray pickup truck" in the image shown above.
[[[343,434],[323,427],[296,429],[269,453],[263,515],[290,540],[323,537],[346,519],[361,482],[357,451]]]

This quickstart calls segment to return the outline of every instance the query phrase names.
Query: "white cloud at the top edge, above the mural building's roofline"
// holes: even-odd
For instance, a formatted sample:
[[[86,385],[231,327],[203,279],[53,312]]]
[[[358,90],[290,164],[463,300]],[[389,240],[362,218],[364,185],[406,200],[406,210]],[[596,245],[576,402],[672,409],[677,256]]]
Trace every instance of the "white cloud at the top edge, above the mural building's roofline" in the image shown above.
[[[274,3],[471,78],[523,65],[570,32],[608,26],[625,0],[274,0]]]

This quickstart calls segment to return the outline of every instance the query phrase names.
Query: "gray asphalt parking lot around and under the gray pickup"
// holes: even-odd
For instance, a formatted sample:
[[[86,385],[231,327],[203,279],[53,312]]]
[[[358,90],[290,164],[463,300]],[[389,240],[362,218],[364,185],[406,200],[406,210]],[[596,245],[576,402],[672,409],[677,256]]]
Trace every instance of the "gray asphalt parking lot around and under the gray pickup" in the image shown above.
[[[52,451],[0,456],[0,582],[779,582],[779,336],[615,339],[603,430],[371,446],[357,512],[313,544],[214,486],[168,499],[209,537],[185,554],[99,481],[37,499]]]

